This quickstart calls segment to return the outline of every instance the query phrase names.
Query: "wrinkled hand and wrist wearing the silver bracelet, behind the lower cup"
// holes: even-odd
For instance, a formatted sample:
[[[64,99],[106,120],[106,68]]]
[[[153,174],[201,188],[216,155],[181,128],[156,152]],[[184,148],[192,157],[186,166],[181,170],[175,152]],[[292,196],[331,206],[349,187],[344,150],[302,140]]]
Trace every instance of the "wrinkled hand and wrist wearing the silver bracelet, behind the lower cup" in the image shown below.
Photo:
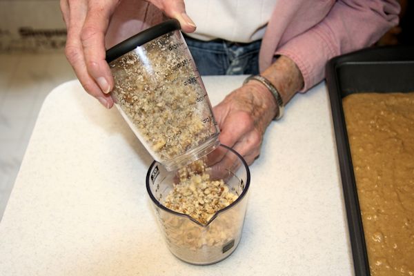
[[[299,68],[285,56],[279,57],[261,75],[273,83],[285,104],[304,85]],[[215,106],[214,112],[221,130],[221,144],[239,152],[250,165],[259,156],[264,132],[279,110],[268,88],[250,80]]]

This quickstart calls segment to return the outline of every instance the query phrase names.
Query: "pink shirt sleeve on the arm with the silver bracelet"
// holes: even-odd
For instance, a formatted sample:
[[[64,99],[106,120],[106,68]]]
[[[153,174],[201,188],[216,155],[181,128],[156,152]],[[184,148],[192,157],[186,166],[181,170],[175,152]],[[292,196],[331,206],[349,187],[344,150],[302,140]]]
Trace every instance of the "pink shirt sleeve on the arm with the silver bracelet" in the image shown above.
[[[324,79],[326,62],[337,56],[371,46],[398,23],[400,5],[386,0],[337,1],[313,28],[276,49],[275,55],[292,59],[304,77],[305,92]]]

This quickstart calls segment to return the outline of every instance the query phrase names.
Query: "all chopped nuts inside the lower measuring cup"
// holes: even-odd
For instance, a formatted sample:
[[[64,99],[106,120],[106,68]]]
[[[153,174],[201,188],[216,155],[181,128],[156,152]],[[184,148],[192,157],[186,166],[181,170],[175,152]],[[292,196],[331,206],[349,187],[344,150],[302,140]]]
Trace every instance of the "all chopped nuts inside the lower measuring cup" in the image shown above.
[[[207,224],[218,210],[232,204],[238,196],[231,193],[222,179],[212,180],[204,161],[197,160],[178,170],[177,184],[168,193],[164,206],[188,214],[187,217],[159,212],[168,246],[179,258],[195,264],[217,262],[232,250],[242,235],[245,205],[238,204]],[[232,248],[230,246],[228,248]]]

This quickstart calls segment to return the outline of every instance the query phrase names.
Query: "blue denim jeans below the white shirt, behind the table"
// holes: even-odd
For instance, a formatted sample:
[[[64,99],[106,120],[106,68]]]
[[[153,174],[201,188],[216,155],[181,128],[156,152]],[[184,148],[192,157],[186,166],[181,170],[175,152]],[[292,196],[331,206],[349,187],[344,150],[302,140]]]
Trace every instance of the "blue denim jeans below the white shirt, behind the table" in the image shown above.
[[[257,75],[262,41],[235,43],[184,37],[200,75]]]

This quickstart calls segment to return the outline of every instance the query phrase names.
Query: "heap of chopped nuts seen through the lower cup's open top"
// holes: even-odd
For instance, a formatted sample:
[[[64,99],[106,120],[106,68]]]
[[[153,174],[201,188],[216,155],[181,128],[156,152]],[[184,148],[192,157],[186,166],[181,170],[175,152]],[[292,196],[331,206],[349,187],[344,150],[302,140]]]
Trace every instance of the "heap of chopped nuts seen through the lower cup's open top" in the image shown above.
[[[236,199],[237,195],[230,193],[223,179],[210,179],[204,162],[198,160],[179,170],[179,183],[174,184],[164,205],[207,224],[218,210],[226,208]]]

